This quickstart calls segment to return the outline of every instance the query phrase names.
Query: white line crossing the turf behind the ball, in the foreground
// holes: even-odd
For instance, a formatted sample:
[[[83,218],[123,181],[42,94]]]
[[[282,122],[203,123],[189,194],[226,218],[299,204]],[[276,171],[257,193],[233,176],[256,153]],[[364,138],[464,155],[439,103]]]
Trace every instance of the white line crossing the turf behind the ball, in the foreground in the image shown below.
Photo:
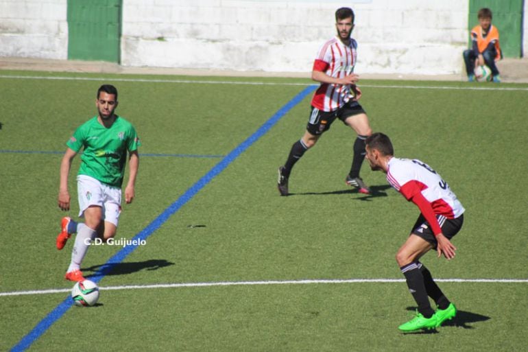
[[[435,279],[448,283],[528,283],[528,279]],[[213,286],[252,286],[252,285],[306,285],[321,283],[400,283],[405,279],[334,279],[334,280],[285,280],[285,281],[220,281],[203,283],[158,283],[153,285],[101,286],[99,290],[140,290],[145,288],[203,288]],[[24,296],[28,294],[56,294],[70,292],[69,288],[51,290],[29,290],[0,292],[1,296]]]

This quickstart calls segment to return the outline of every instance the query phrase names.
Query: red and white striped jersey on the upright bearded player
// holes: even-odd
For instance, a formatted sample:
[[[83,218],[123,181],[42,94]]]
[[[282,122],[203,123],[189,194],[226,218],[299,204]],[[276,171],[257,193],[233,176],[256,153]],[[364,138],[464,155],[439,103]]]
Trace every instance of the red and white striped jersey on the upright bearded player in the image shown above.
[[[350,75],[357,58],[357,42],[350,38],[350,45],[344,45],[335,36],[320,47],[313,62],[313,71],[322,71],[333,78]],[[350,85],[322,83],[315,91],[312,106],[322,111],[333,111],[350,100]]]

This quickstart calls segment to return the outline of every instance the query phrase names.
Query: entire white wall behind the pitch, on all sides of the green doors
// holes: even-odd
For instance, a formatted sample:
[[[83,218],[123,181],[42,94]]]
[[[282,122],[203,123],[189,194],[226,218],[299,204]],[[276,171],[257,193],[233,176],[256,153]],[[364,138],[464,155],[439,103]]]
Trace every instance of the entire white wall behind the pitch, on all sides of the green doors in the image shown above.
[[[468,1],[123,0],[121,64],[309,72],[346,5],[357,73],[461,73]],[[66,59],[66,16],[67,0],[0,0],[0,56]]]

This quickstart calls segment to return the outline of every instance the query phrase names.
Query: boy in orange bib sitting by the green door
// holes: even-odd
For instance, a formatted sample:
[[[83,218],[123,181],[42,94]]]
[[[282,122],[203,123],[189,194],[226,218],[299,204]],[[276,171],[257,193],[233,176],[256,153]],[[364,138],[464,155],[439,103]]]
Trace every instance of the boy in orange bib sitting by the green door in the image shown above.
[[[475,81],[475,64],[486,65],[492,71],[493,82],[501,82],[499,69],[495,62],[503,58],[501,46],[499,45],[499,30],[492,25],[492,11],[489,8],[481,8],[478,12],[479,25],[471,30],[472,48],[464,51],[464,62],[468,82]]]

